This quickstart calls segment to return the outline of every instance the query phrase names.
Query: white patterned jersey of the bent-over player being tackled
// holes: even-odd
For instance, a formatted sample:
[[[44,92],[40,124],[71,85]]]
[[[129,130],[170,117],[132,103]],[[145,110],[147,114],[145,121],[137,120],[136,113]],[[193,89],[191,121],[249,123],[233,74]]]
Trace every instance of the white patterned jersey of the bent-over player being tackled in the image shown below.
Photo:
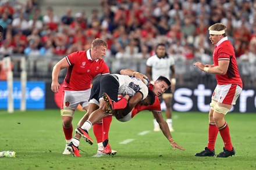
[[[134,96],[136,92],[141,92],[143,94],[143,99],[148,95],[148,87],[144,84],[141,79],[136,77],[130,77],[129,75],[111,74],[113,77],[118,77],[119,81],[119,95],[129,95]],[[115,77],[115,78],[116,78]]]

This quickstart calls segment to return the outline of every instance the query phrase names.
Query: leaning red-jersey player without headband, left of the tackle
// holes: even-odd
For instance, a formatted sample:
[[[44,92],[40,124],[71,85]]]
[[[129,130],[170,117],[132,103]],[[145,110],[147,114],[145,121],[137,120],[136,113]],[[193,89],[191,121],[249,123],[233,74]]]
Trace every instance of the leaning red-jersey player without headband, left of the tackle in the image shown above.
[[[63,154],[70,154],[67,145],[72,140],[73,114],[81,104],[84,110],[88,108],[88,99],[91,93],[91,82],[98,75],[109,74],[109,68],[103,60],[108,45],[102,39],[96,38],[91,43],[91,48],[77,51],[67,55],[55,64],[52,70],[51,90],[59,92],[58,77],[62,69],[67,68],[63,82],[61,117],[66,147]]]

